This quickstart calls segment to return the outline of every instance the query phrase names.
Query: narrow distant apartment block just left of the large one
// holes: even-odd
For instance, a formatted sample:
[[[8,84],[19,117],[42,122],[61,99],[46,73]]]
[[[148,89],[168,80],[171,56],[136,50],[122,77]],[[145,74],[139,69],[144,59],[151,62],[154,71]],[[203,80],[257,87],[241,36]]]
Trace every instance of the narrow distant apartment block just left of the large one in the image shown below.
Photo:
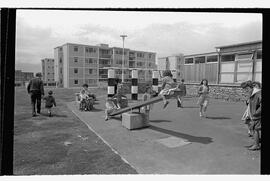
[[[42,80],[45,86],[55,86],[54,59],[45,58],[41,60]]]

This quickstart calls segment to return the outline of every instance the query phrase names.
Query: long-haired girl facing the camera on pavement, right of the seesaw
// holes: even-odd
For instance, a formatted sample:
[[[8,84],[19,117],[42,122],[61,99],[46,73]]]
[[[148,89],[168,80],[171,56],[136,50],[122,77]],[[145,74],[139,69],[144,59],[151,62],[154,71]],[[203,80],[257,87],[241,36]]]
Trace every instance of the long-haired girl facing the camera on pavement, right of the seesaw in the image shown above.
[[[200,117],[206,117],[206,109],[209,103],[209,86],[208,86],[208,80],[203,79],[200,83],[200,87],[198,90],[199,94],[199,100],[198,104],[200,105]]]

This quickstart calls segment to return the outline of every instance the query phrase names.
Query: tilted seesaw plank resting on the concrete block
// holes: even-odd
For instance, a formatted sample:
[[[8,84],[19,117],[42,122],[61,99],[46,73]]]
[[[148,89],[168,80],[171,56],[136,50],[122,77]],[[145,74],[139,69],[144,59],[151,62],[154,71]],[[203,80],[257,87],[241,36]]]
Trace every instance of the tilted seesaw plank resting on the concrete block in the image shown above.
[[[172,92],[171,92],[170,95],[165,96],[167,99],[170,99],[172,97],[177,97],[178,95],[180,95],[182,93],[182,91],[180,91],[178,89],[171,89],[171,91]],[[116,116],[116,115],[119,115],[119,114],[122,114],[122,113],[125,113],[125,112],[132,111],[134,109],[140,110],[141,107],[144,107],[144,106],[147,106],[147,105],[150,105],[150,104],[154,104],[154,103],[160,102],[162,100],[163,100],[162,97],[160,95],[158,95],[157,97],[154,97],[154,98],[149,99],[147,101],[139,102],[139,103],[134,104],[132,106],[129,106],[129,107],[117,110],[115,112],[112,112],[112,113],[109,114],[109,116]]]

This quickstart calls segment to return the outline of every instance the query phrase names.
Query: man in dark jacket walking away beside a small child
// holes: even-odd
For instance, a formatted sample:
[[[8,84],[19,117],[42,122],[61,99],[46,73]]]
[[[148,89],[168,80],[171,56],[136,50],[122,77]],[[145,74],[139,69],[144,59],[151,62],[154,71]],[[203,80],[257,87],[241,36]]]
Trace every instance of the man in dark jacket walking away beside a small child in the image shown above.
[[[41,97],[44,95],[44,87],[41,77],[41,73],[36,73],[36,77],[31,79],[27,86],[27,92],[31,96],[33,117],[35,117],[37,114],[40,114]]]

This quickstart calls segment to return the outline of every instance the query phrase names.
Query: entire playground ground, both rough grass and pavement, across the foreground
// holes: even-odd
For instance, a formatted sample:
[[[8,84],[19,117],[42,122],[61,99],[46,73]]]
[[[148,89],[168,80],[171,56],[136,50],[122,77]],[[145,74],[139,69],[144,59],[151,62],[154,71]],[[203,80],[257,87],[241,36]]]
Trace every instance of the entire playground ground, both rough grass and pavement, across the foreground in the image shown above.
[[[197,98],[181,109],[160,102],[149,127],[130,131],[120,119],[104,121],[106,90],[93,90],[94,112],[78,111],[78,90],[54,91],[57,116],[31,118],[29,97],[16,90],[14,174],[260,174],[260,152],[245,148],[252,140],[241,102],[211,99],[207,118]]]

